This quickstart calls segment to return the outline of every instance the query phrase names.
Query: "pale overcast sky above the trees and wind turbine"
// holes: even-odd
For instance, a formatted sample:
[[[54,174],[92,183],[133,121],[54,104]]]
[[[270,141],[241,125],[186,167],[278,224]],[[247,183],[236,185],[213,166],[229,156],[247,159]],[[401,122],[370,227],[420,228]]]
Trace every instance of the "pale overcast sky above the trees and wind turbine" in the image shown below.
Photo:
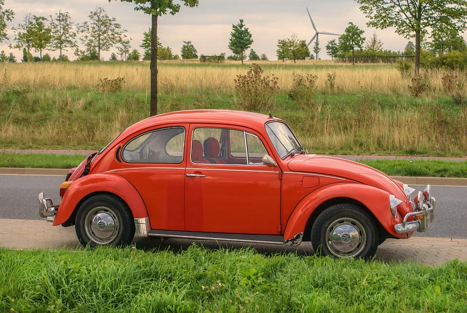
[[[177,1],[177,0],[176,0]],[[253,37],[253,48],[258,54],[266,53],[270,59],[277,59],[277,40],[297,34],[300,39],[309,41],[314,36],[314,30],[306,13],[306,7],[319,31],[341,34],[347,23],[352,21],[365,31],[369,38],[373,32],[383,42],[383,49],[403,50],[407,39],[395,34],[394,29],[376,30],[365,25],[366,18],[359,11],[354,0],[199,0],[198,8],[182,7],[176,16],[163,16],[159,21],[159,37],[164,46],[170,46],[174,54],[180,55],[183,40],[191,40],[198,50],[198,55],[212,55],[225,52],[232,54],[227,45],[229,43],[232,24],[240,18],[250,28]],[[109,16],[128,31],[132,38],[131,45],[140,52],[143,32],[150,26],[150,17],[142,12],[133,10],[131,3],[108,2],[108,0],[5,0],[5,7],[15,12],[15,20],[9,25],[10,42],[14,38],[12,25],[21,22],[26,13],[49,17],[58,12],[68,11],[74,23],[87,19],[90,11],[97,6],[103,7]],[[325,55],[327,41],[332,36],[320,36],[322,52]],[[10,52],[7,44],[0,44],[0,50]],[[311,50],[311,46],[310,46]],[[110,52],[102,55],[108,59]],[[21,52],[13,50],[18,59]],[[52,56],[57,52],[49,52]],[[38,53],[33,53],[38,55]],[[65,52],[74,58],[72,51]]]

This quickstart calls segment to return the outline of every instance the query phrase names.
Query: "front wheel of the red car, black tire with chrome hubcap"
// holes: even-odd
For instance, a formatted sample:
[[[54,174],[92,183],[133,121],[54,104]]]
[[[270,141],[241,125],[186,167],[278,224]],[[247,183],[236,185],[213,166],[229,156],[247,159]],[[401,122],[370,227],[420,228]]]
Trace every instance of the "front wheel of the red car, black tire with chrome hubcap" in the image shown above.
[[[311,228],[311,244],[321,256],[371,258],[378,243],[379,234],[373,218],[350,203],[328,207]]]

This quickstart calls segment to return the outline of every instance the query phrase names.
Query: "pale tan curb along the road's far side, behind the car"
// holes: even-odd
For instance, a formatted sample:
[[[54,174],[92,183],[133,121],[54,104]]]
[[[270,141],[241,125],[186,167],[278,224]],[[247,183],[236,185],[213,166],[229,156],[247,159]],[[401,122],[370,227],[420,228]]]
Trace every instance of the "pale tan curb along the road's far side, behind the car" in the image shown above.
[[[0,167],[0,175],[66,176],[67,174],[68,169],[63,168]],[[409,176],[391,176],[391,178],[412,185],[467,186],[467,178]]]

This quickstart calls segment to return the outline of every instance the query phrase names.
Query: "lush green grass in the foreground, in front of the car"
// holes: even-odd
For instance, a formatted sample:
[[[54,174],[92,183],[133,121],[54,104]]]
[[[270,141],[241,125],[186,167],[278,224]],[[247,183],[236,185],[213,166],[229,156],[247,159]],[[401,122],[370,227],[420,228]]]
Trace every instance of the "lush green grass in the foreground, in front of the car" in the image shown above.
[[[467,263],[253,249],[0,250],[1,312],[466,312]]]

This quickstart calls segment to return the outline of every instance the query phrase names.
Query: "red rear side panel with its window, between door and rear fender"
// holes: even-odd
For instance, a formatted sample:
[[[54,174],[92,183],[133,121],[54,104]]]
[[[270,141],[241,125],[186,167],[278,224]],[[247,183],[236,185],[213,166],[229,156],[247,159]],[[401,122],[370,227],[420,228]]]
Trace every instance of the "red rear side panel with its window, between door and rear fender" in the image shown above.
[[[152,229],[185,230],[184,173],[188,124],[143,131],[122,148],[123,176],[139,192]]]

